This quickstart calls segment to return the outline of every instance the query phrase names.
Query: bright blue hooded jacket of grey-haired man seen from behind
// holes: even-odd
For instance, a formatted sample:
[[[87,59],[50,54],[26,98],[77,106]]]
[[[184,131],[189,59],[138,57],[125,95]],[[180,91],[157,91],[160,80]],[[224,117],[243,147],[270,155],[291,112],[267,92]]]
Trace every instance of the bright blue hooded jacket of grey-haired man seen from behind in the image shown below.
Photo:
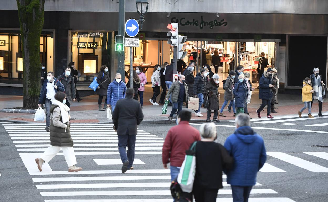
[[[227,174],[227,183],[232,186],[253,186],[256,174],[266,161],[263,138],[249,126],[237,128],[224,147],[234,157],[234,167]]]

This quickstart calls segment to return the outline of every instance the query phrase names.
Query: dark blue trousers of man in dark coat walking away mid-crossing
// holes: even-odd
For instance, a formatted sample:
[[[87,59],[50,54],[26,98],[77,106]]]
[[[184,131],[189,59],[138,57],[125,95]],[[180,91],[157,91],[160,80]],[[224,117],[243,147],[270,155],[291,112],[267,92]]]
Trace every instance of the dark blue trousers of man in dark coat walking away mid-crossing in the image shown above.
[[[135,137],[137,135],[118,135],[118,152],[120,153],[122,163],[129,160],[128,168],[131,168],[134,160]],[[128,154],[126,153],[128,146]]]

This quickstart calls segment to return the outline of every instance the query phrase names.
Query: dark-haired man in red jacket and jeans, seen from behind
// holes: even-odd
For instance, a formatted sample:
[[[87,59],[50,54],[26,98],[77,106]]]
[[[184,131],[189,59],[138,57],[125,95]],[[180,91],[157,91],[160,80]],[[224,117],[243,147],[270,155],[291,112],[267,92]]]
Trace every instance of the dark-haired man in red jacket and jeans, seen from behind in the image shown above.
[[[186,150],[193,142],[200,140],[199,131],[189,125],[190,111],[180,111],[176,119],[178,125],[172,127],[167,133],[162,153],[164,169],[168,169],[167,164],[170,163],[171,181],[179,174]]]

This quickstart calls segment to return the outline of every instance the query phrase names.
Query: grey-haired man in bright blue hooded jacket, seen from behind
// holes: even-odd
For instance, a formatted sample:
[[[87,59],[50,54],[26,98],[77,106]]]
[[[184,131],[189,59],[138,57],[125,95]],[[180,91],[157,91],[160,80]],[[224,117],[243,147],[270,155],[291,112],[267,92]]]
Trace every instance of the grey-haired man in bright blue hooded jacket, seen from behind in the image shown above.
[[[234,168],[225,171],[234,202],[247,202],[256,174],[266,161],[264,140],[250,127],[247,114],[237,115],[236,131],[226,139],[224,147],[234,157]]]

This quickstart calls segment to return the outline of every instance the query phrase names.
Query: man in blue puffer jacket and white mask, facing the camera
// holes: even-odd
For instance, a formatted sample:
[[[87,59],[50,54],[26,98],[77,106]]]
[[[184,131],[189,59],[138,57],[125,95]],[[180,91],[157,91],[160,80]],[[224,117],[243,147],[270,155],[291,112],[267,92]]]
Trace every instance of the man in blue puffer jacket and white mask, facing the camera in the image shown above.
[[[107,89],[107,104],[109,104],[109,108],[112,108],[112,112],[114,112],[116,102],[125,98],[126,89],[122,75],[120,73],[115,74],[115,79],[108,85]]]

